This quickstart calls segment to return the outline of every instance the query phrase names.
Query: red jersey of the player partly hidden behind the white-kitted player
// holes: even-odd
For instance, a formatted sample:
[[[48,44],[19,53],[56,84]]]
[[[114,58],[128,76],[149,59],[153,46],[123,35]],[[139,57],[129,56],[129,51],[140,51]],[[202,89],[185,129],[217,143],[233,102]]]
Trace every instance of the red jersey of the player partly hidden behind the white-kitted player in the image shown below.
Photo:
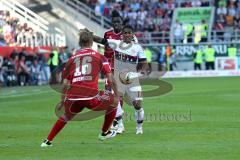
[[[114,30],[111,29],[111,30],[105,32],[104,38],[105,39],[121,40],[122,39],[122,32],[115,33]],[[112,48],[110,48],[108,46],[105,46],[104,56],[107,57],[108,62],[109,62],[112,69],[114,69],[114,54],[115,54],[115,51]]]

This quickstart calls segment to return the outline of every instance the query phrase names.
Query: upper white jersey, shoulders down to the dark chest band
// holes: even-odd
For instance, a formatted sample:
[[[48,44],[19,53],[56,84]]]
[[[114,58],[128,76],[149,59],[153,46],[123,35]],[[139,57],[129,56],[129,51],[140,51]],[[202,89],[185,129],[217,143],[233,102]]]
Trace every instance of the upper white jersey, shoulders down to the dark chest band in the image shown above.
[[[122,40],[108,39],[109,47],[116,51],[115,58],[121,61],[138,62],[146,58],[143,48],[138,43],[125,43]]]

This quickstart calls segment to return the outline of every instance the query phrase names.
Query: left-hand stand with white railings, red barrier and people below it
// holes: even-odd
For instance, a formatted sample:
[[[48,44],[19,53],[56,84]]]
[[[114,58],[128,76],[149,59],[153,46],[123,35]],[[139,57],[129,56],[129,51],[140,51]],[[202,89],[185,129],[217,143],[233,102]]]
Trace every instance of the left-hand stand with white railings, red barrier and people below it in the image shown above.
[[[17,1],[0,1],[0,84],[48,83],[48,57],[57,46],[58,63],[66,62],[65,36]],[[64,51],[64,53],[62,52]],[[51,55],[51,54],[50,54]]]

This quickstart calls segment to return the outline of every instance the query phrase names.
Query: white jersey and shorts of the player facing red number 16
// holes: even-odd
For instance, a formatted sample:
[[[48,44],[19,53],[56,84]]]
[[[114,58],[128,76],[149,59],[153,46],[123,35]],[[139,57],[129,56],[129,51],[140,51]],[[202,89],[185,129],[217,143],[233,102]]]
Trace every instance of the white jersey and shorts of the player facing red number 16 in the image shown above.
[[[143,48],[138,43],[124,43],[122,40],[108,39],[109,47],[111,47],[115,53],[114,59],[114,79],[118,86],[118,92],[120,95],[125,95],[128,102],[134,100],[142,100],[141,91],[142,88],[139,84],[138,78],[134,78],[131,84],[123,84],[120,80],[119,74],[126,70],[132,73],[137,73],[136,63],[139,59],[146,59]],[[128,103],[132,105],[132,103]]]

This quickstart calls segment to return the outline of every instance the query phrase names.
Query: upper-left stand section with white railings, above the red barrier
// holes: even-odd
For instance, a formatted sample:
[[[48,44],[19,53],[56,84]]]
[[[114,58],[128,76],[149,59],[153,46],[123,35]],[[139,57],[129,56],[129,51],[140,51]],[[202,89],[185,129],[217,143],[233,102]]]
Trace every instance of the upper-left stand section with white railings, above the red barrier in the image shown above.
[[[0,1],[0,28],[8,46],[65,46],[64,34],[18,1]]]

